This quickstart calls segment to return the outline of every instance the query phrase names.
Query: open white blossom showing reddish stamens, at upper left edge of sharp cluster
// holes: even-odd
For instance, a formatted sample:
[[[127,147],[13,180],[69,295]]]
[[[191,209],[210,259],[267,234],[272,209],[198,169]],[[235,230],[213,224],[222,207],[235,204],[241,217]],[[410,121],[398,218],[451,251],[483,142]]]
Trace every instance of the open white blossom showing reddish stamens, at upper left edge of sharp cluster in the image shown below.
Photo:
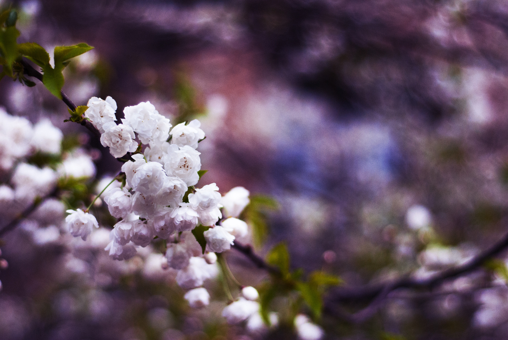
[[[134,131],[130,126],[109,122],[104,125],[104,129],[105,132],[101,135],[101,144],[109,147],[109,152],[113,157],[122,157],[125,153],[134,152],[138,148],[138,143],[134,140]]]

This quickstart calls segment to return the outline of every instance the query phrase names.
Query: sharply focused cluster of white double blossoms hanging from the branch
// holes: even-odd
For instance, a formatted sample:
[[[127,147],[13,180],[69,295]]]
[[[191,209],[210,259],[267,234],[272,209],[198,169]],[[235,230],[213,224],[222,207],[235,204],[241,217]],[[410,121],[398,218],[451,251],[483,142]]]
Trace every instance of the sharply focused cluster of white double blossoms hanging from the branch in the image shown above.
[[[85,112],[114,157],[134,152],[122,166],[125,186],[115,184],[102,195],[111,215],[119,219],[106,250],[114,259],[126,260],[154,237],[167,240],[167,266],[177,270],[180,287],[192,289],[185,298],[194,307],[207,305],[209,294],[198,287],[218,273],[214,253],[230,249],[235,237],[247,234],[247,224],[237,218],[249,203],[249,192],[234,188],[221,197],[215,183],[194,187],[201,170],[196,148],[205,138],[198,120],[172,128],[169,119],[146,102],[126,107],[125,118],[117,125],[116,108],[111,97],[93,97]],[[223,218],[222,207],[228,218],[218,223]],[[75,237],[85,240],[99,227],[88,211],[68,212],[66,222]],[[192,233],[199,225],[209,227],[203,234],[205,254]]]

